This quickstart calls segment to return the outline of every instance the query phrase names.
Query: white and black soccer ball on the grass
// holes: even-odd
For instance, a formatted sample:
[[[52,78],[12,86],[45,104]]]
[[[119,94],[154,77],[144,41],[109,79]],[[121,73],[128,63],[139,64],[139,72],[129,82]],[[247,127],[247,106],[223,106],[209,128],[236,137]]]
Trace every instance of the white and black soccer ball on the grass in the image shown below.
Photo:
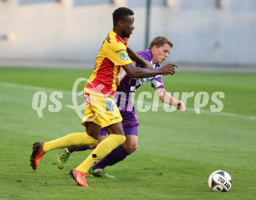
[[[208,179],[208,186],[215,192],[227,192],[232,186],[231,176],[223,170],[212,172]]]

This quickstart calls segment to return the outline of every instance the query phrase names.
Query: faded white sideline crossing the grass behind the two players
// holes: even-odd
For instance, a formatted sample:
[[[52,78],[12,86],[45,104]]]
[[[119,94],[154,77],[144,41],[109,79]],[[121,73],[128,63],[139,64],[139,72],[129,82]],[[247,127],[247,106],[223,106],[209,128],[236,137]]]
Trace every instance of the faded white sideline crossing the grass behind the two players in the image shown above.
[[[0,86],[6,87],[6,88],[19,88],[19,89],[26,89],[26,90],[32,90],[35,92],[55,92],[60,91],[67,95],[72,95],[72,90],[61,90],[61,89],[54,89],[54,88],[43,88],[38,86],[32,86],[32,85],[19,85],[16,83],[8,83],[8,82],[0,82]],[[152,104],[151,101],[144,101],[146,104]],[[163,104],[159,104],[159,107],[163,107]],[[194,108],[186,107],[186,111],[195,112]],[[247,119],[256,119],[256,116],[254,115],[241,115],[236,114],[232,112],[211,112],[209,110],[200,109],[200,112],[205,114],[214,114],[214,115],[221,115],[226,117],[236,117],[236,118],[247,118]]]

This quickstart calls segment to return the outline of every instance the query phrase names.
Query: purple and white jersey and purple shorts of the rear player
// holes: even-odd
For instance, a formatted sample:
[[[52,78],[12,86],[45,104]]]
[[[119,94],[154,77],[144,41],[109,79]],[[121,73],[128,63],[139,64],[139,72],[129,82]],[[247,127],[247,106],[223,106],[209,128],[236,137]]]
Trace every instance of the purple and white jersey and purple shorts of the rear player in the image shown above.
[[[137,52],[137,54],[139,54],[145,60],[150,61],[152,68],[160,67],[159,63],[153,64],[153,54],[150,49]],[[150,78],[130,78],[126,75],[125,78],[123,78],[123,80],[120,82],[120,85],[116,90],[116,99],[118,99],[117,105],[119,107],[120,114],[123,117],[122,124],[124,127],[139,125],[135,109],[131,101],[131,96],[134,94],[134,92],[136,92],[137,88],[139,88],[144,83],[147,83],[148,81],[151,81],[152,88],[164,88],[162,75],[157,75]],[[126,94],[126,99],[121,97],[120,93]]]

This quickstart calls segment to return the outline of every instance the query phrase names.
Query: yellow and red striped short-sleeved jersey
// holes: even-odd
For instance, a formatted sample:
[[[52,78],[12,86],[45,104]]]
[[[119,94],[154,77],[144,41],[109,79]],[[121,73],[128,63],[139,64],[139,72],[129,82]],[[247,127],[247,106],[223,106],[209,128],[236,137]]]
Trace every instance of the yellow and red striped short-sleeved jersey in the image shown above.
[[[86,83],[86,89],[97,93],[113,95],[116,92],[116,78],[120,66],[131,63],[127,48],[127,38],[120,38],[111,30],[99,50],[93,74]]]

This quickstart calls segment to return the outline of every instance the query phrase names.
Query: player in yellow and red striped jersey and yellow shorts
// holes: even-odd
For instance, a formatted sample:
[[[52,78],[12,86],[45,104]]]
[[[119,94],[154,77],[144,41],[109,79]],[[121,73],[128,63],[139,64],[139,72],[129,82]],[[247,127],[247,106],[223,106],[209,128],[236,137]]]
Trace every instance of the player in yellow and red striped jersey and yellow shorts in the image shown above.
[[[120,67],[131,78],[146,78],[159,74],[175,73],[177,66],[174,64],[167,64],[162,68],[154,69],[134,66],[131,59],[144,65],[145,61],[127,48],[127,38],[130,37],[134,29],[133,14],[133,11],[128,8],[118,8],[113,12],[113,30],[106,36],[99,50],[93,74],[84,88],[86,108],[82,125],[86,126],[86,132],[70,133],[56,140],[34,143],[30,157],[31,166],[34,170],[37,169],[40,159],[46,152],[56,148],[95,144],[101,128],[105,128],[109,134],[108,138],[99,143],[84,162],[70,171],[70,175],[77,184],[88,187],[86,183],[88,169],[125,142],[121,123],[122,117],[113,97]]]

